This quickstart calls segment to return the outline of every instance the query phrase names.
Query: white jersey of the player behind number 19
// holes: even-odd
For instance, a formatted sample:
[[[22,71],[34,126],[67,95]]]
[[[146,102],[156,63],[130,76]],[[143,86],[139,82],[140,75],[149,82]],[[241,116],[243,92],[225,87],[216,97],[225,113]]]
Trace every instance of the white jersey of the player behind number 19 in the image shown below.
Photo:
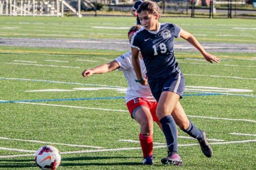
[[[126,52],[123,55],[119,56],[115,59],[120,68],[119,71],[123,71],[123,75],[127,80],[128,89],[126,91],[125,101],[126,103],[134,98],[143,98],[149,102],[156,102],[154,99],[149,85],[141,85],[139,82],[135,82],[137,79],[136,74],[133,69],[132,63],[132,52]],[[142,72],[142,77],[146,78],[146,67],[144,65],[144,61],[140,59],[140,68]]]

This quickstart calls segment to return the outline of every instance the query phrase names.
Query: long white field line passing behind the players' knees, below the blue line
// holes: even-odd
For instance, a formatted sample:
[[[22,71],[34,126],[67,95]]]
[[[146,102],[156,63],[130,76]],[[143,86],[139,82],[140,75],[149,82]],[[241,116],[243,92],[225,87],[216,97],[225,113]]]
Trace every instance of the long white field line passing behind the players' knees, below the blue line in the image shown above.
[[[2,102],[6,102],[4,100],[0,100]],[[100,108],[89,108],[89,107],[80,107],[80,106],[72,106],[72,105],[50,105],[50,104],[43,104],[43,103],[32,103],[32,102],[15,102],[15,103],[24,103],[24,104],[32,104],[32,105],[49,105],[49,106],[57,106],[57,107],[70,107],[70,108],[78,108],[78,109],[95,109],[95,110],[105,110],[105,111],[116,111],[116,112],[129,112],[128,110],[116,110],[116,109],[100,109]],[[256,120],[249,120],[249,119],[228,119],[228,118],[214,118],[214,117],[206,117],[206,116],[189,116],[188,117],[197,117],[197,118],[204,118],[204,119],[222,119],[222,120],[235,120],[235,121],[245,121],[245,122],[255,122]]]

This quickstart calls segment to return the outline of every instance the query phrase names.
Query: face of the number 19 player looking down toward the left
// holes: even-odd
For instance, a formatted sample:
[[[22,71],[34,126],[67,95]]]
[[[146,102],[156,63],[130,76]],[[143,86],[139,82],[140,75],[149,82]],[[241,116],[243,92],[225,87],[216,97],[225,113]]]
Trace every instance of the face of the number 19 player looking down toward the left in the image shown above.
[[[158,30],[158,14],[153,15],[148,13],[147,10],[143,10],[138,14],[138,17],[140,18],[140,23],[146,28],[147,31]]]

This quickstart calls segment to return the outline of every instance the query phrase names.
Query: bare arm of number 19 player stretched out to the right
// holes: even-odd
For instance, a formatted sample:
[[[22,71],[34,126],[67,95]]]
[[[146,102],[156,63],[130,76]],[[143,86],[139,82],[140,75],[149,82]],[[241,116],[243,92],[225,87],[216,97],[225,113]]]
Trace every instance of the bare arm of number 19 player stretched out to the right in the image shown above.
[[[183,39],[185,39],[186,41],[188,41],[190,44],[192,44],[197,50],[200,51],[200,53],[203,55],[204,59],[206,61],[209,61],[210,63],[212,63],[212,61],[215,61],[217,63],[220,62],[220,60],[218,58],[216,58],[216,56],[207,53],[205,51],[205,49],[201,46],[201,44],[196,40],[196,38],[190,34],[189,32],[185,31],[182,29],[181,33],[180,33],[180,37],[182,37]]]

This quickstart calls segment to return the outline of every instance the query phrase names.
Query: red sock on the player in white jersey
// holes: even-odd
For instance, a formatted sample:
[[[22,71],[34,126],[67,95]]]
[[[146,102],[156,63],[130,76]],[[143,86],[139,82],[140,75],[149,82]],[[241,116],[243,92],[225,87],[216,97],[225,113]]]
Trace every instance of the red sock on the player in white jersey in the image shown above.
[[[140,145],[143,152],[143,157],[152,155],[153,153],[153,135],[144,136],[140,133]]]

